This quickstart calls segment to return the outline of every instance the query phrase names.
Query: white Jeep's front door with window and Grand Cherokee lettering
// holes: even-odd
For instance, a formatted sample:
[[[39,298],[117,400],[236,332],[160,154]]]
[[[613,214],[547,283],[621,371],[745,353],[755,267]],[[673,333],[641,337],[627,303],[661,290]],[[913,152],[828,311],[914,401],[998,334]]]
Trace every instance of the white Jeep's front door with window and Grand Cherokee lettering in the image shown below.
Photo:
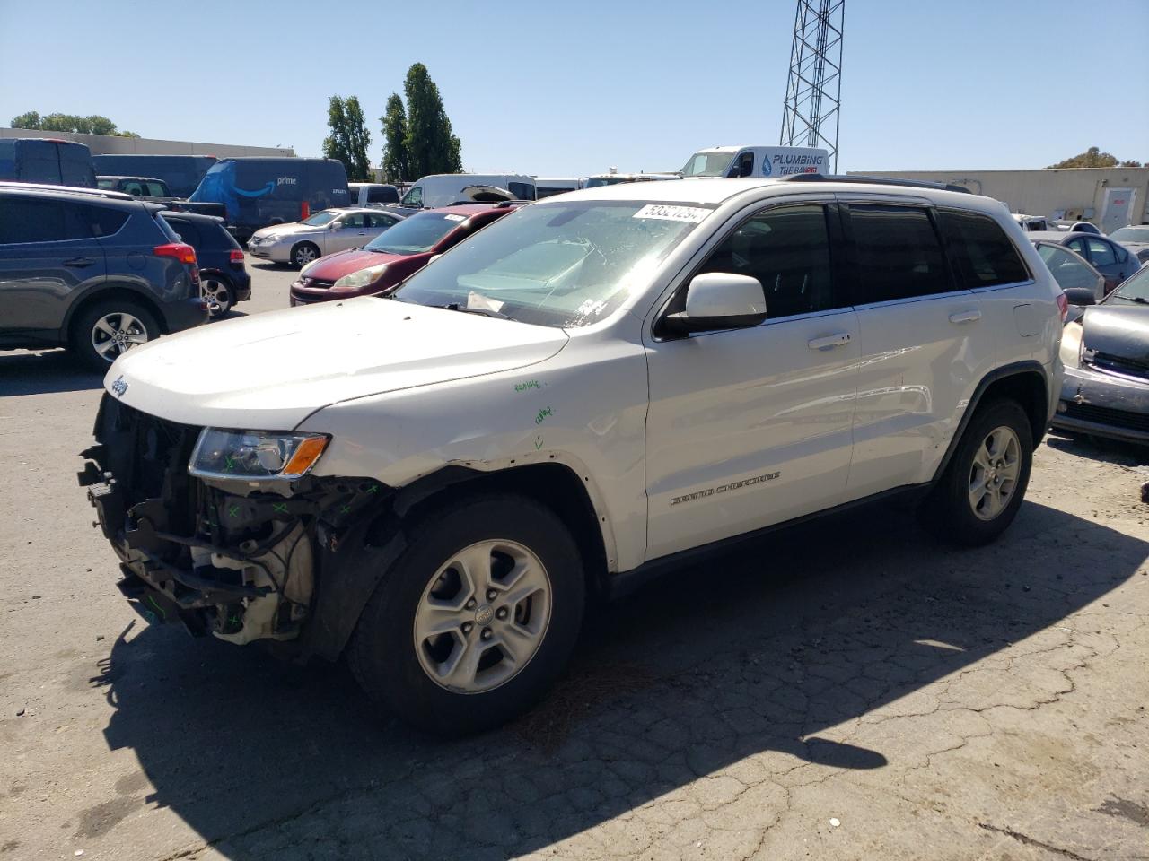
[[[648,559],[843,501],[859,352],[834,271],[839,231],[828,201],[742,219],[689,277],[757,278],[765,323],[648,338]]]

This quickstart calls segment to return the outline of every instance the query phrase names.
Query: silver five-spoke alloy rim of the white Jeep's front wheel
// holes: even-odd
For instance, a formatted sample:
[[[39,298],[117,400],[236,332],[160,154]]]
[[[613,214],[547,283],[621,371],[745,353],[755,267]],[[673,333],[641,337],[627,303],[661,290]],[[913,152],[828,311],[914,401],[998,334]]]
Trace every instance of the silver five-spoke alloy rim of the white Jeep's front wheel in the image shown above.
[[[419,598],[419,666],[456,693],[484,693],[510,681],[542,644],[550,594],[547,569],[523,544],[496,540],[463,548]]]

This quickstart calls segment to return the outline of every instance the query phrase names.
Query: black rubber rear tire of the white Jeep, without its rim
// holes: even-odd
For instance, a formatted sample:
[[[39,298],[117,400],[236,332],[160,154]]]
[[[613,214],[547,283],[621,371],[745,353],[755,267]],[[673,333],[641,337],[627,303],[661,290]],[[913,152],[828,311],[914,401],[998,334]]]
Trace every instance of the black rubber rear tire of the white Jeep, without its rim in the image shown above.
[[[976,472],[974,458],[987,439],[998,428],[1008,428],[1016,439],[1018,452],[1016,479],[1004,505],[992,517],[979,517],[971,501]],[[988,450],[988,449],[987,449]],[[1033,465],[1033,432],[1030,418],[1016,401],[994,401],[978,408],[970,419],[954,457],[941,481],[926,498],[921,513],[926,526],[939,538],[962,546],[988,544],[1001,535],[1017,517],[1018,509],[1030,484]],[[996,474],[996,473],[994,473]],[[1004,492],[1004,491],[1003,491]],[[985,502],[985,497],[982,497]]]

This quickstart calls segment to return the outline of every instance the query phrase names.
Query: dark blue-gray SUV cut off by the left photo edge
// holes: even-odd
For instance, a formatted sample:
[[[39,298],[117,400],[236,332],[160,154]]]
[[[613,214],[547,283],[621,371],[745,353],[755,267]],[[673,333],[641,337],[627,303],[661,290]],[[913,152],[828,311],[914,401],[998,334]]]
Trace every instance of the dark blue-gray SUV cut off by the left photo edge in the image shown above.
[[[0,183],[0,349],[70,347],[106,370],[136,344],[205,323],[195,250],[162,209]]]

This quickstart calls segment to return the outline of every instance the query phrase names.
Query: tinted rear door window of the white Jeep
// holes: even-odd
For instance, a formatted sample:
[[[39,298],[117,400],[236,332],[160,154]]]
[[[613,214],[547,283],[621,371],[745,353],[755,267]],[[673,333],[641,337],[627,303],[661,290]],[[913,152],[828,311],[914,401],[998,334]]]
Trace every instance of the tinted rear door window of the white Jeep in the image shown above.
[[[930,296],[954,289],[925,209],[850,204],[857,257],[855,304]]]

